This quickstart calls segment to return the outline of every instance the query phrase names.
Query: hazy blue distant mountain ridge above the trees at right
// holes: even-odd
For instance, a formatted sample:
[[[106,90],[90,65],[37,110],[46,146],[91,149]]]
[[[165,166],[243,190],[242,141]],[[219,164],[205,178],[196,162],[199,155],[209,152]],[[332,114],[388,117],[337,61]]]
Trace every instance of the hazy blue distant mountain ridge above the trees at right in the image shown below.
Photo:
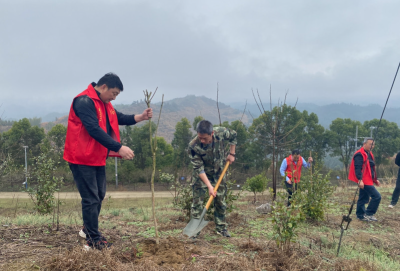
[[[294,104],[289,104],[293,106]],[[233,103],[233,108],[240,111],[244,109],[244,103]],[[269,109],[269,104],[264,104],[266,110]],[[273,105],[273,106],[276,106]],[[296,108],[300,111],[307,110],[308,113],[315,113],[318,116],[319,123],[325,128],[329,128],[329,125],[333,120],[337,118],[350,118],[352,120],[358,120],[363,123],[366,120],[379,119],[382,114],[383,107],[377,104],[371,104],[367,106],[339,103],[329,105],[316,105],[312,103],[298,103]],[[246,111],[250,111],[253,117],[260,115],[260,110],[256,104],[247,104]],[[397,123],[400,126],[400,108],[386,108],[383,118]]]

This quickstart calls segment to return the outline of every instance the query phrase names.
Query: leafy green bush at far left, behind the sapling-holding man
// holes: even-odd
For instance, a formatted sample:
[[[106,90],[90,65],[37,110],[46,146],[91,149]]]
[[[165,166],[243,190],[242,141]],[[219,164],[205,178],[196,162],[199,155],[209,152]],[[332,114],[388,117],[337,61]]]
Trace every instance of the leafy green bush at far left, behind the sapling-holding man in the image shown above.
[[[54,193],[59,190],[62,178],[54,176],[56,163],[42,153],[35,158],[35,169],[29,179],[31,183],[27,192],[32,199],[36,211],[40,214],[50,214],[56,206]]]

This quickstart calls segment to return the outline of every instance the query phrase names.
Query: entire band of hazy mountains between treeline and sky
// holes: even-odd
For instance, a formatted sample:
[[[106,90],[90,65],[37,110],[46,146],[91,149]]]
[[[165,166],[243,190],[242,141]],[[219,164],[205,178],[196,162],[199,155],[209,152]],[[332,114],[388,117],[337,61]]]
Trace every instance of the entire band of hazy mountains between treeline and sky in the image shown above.
[[[161,103],[154,104],[154,119],[158,118]],[[276,104],[275,104],[276,105]],[[273,105],[273,106],[275,106]],[[293,106],[293,104],[290,104]],[[140,101],[134,101],[130,105],[117,104],[114,105],[117,110],[126,114],[140,114],[146,108],[146,104]],[[221,121],[234,121],[242,118],[245,104],[243,102],[232,103],[226,105],[219,103]],[[269,104],[264,104],[266,110],[269,109]],[[312,103],[298,103],[296,105],[300,111],[307,110],[308,113],[314,112],[318,115],[319,123],[325,128],[329,128],[331,122],[336,118],[350,118],[364,122],[374,118],[380,118],[383,107],[377,104],[360,106],[354,104],[329,104],[316,105]],[[250,113],[249,113],[250,112]],[[217,102],[213,99],[204,96],[189,95],[183,98],[176,98],[165,101],[160,120],[159,135],[164,137],[168,142],[173,139],[175,125],[182,118],[186,117],[189,122],[193,122],[194,117],[203,116],[214,124],[219,123]],[[260,111],[256,104],[247,104],[246,112],[243,115],[243,123],[251,125],[252,117],[256,118],[260,115]],[[400,126],[400,108],[387,108],[384,119],[397,123]],[[42,127],[49,130],[55,124],[61,123],[67,125],[68,115],[57,112],[49,113],[42,117]],[[8,130],[10,127],[0,126],[0,132]]]

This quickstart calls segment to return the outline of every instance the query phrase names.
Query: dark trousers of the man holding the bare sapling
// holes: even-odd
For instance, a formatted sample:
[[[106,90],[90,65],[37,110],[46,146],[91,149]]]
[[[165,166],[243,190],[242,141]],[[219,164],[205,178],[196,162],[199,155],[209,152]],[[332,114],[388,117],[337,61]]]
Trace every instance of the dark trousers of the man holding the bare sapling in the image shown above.
[[[106,169],[104,166],[76,164],[69,164],[69,168],[82,198],[83,225],[88,233],[86,239],[97,242],[101,237],[99,214],[101,203],[106,195]]]

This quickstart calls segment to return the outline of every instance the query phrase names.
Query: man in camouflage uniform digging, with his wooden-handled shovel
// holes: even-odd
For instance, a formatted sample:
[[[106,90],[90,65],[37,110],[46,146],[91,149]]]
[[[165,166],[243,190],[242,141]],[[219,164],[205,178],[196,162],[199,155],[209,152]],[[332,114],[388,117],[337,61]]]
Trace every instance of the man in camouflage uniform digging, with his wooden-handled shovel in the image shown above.
[[[204,216],[214,198],[214,222],[217,233],[224,237],[231,237],[225,219],[227,186],[224,175],[228,165],[235,161],[236,131],[225,127],[213,127],[211,122],[207,120],[200,121],[196,130],[197,136],[189,143],[188,148],[193,165],[191,220],[183,233],[193,239],[200,234],[200,231],[208,223],[204,220]],[[228,156],[225,156],[224,143],[226,140],[230,144]],[[216,191],[214,186],[217,186]],[[203,208],[203,200],[207,190],[210,200],[206,208]]]

